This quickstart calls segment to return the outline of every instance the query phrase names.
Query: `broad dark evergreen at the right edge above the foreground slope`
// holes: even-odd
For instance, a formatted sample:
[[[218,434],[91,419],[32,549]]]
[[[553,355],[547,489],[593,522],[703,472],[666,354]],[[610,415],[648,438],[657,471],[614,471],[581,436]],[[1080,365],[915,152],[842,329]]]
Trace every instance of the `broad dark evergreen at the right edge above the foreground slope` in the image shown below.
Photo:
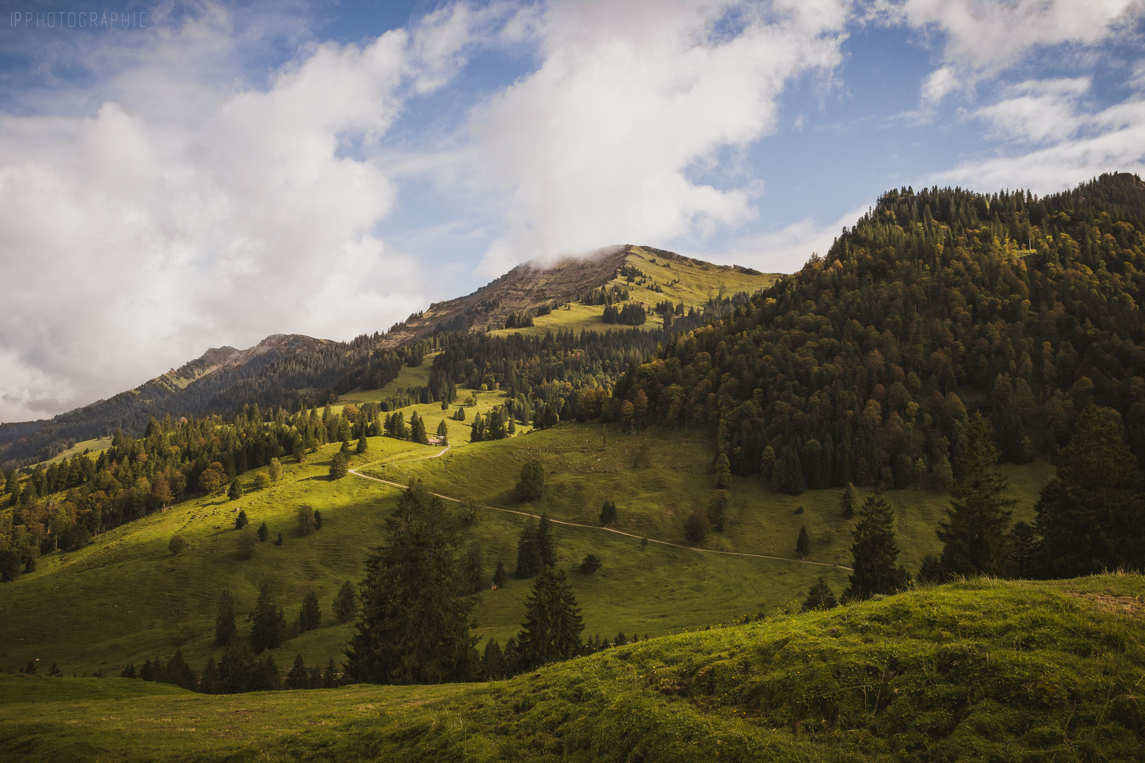
[[[1035,506],[1044,573],[1145,569],[1145,480],[1119,416],[1087,406],[1057,461]]]

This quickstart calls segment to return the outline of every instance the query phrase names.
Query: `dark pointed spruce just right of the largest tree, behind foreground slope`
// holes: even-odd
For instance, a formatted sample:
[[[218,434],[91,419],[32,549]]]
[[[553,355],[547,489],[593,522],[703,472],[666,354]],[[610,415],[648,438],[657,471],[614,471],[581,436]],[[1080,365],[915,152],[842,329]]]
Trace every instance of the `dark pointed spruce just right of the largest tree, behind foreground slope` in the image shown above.
[[[526,601],[524,622],[518,635],[520,662],[532,668],[576,657],[584,622],[564,571],[547,567]]]

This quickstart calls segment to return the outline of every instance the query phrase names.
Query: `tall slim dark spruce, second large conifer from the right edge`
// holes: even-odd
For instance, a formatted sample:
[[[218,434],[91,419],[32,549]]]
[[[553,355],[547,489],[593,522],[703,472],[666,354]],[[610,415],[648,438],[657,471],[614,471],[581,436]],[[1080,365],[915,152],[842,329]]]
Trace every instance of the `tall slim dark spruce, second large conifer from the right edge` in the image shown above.
[[[948,574],[1000,574],[1006,563],[1005,532],[1017,503],[1005,498],[1006,479],[994,470],[998,452],[981,414],[966,428],[966,447],[958,456],[958,479],[950,493],[947,518],[939,523],[942,570]]]

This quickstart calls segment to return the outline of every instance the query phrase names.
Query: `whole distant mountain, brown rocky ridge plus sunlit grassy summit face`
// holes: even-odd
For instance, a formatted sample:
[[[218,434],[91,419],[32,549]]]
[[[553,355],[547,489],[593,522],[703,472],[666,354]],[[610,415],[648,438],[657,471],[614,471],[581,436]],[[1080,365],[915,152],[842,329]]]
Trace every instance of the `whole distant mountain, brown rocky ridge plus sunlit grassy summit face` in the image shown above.
[[[660,271],[645,273],[640,268]],[[403,365],[420,363],[412,348],[450,331],[502,329],[507,323],[532,323],[547,307],[577,302],[598,289],[599,304],[577,305],[577,326],[550,319],[554,327],[607,329],[601,317],[614,302],[641,304],[652,312],[671,301],[681,312],[701,308],[721,292],[753,292],[774,277],[749,268],[714,265],[654,247],[618,246],[585,260],[553,265],[518,265],[467,296],[436,302],[395,324],[385,334],[350,342],[273,334],[246,350],[212,348],[183,366],[105,400],[48,421],[0,426],[0,463],[5,469],[49,459],[77,442],[116,429],[141,435],[155,416],[232,415],[244,404],[262,407],[322,405],[357,387],[377,389]],[[563,318],[563,317],[562,317]],[[544,320],[542,321],[544,323]],[[648,327],[661,323],[650,321]]]

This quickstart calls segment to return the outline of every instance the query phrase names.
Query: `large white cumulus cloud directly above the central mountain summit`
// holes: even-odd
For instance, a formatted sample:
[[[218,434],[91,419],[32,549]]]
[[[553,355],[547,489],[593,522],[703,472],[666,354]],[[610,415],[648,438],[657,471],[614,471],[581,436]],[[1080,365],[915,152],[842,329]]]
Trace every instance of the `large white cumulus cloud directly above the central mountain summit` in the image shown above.
[[[845,19],[831,0],[548,7],[539,67],[474,113],[479,166],[508,198],[480,271],[750,220],[748,189],[696,176],[774,128],[792,78],[839,63]]]

